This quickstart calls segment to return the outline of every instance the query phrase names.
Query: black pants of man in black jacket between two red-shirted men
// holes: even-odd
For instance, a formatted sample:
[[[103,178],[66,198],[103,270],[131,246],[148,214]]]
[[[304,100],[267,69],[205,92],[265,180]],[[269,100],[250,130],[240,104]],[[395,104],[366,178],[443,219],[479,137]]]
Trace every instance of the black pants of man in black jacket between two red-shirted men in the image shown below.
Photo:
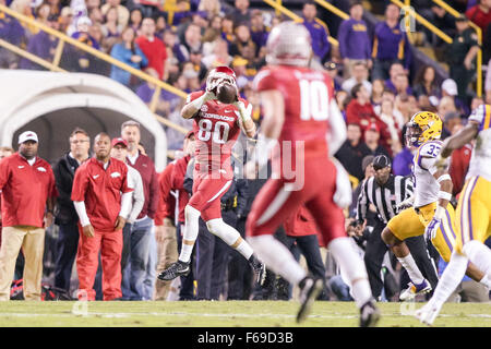
[[[55,287],[70,290],[70,278],[79,246],[77,224],[59,225],[57,261],[55,266]]]

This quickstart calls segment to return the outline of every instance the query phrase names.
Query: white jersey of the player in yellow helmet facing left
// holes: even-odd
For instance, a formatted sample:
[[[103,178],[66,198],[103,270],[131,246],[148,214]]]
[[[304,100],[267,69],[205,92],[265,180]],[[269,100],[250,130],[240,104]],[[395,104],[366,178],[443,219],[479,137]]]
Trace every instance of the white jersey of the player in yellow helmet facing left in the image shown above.
[[[412,159],[414,207],[421,207],[439,200],[440,184],[433,177],[434,163],[442,149],[442,141],[429,141],[420,145]]]

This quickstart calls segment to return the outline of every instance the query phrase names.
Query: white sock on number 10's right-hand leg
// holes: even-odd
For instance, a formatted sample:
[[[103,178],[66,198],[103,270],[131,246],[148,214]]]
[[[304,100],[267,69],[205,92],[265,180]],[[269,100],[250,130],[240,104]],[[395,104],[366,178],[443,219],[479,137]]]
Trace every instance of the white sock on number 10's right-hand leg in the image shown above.
[[[350,238],[334,239],[327,248],[346,275],[357,306],[361,308],[373,299],[363,261],[355,251]]]

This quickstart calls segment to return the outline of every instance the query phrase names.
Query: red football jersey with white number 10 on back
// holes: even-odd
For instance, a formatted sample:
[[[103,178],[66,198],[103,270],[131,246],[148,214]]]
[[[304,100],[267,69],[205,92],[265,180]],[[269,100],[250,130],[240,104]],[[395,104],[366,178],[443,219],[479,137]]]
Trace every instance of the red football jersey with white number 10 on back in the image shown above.
[[[304,156],[326,157],[330,104],[334,84],[327,73],[308,68],[273,65],[263,68],[254,79],[256,92],[277,89],[285,100],[285,122],[278,142],[303,141]],[[294,153],[292,153],[294,154]]]

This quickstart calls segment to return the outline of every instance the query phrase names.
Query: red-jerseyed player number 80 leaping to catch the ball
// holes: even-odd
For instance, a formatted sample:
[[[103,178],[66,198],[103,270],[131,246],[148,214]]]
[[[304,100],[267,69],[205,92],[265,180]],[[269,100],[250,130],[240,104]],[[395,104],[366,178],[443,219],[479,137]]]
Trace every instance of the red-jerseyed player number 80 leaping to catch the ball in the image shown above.
[[[223,104],[216,93],[225,85],[233,87],[236,101]],[[253,254],[249,243],[240,233],[221,219],[220,197],[227,192],[233,172],[230,165],[231,148],[240,130],[248,137],[255,134],[255,124],[251,118],[252,105],[237,97],[236,74],[228,67],[212,70],[206,80],[206,91],[194,92],[188,96],[181,116],[194,118],[193,131],[196,135],[193,194],[185,206],[185,225],[179,258],[160,273],[160,280],[172,280],[190,273],[190,258],[199,233],[200,216],[206,222],[209,232],[237,250],[250,263],[262,284],[265,278],[265,265]]]

